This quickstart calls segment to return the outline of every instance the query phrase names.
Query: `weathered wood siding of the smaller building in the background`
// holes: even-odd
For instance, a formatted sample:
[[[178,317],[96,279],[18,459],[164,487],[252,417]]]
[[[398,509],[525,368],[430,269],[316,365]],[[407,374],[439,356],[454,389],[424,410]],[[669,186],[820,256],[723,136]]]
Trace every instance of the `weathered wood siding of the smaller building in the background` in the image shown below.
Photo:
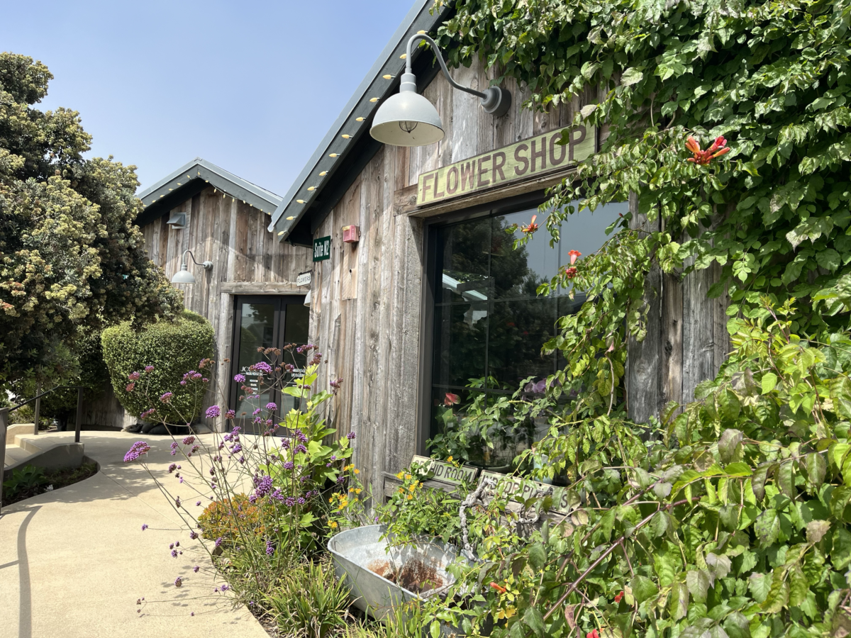
[[[180,284],[188,310],[207,317],[215,332],[215,359],[220,363],[214,376],[208,404],[227,396],[230,367],[222,365],[231,357],[235,294],[305,294],[295,277],[310,270],[311,251],[278,242],[266,228],[269,215],[243,202],[224,196],[209,186],[191,200],[173,208],[186,211],[186,228],[175,230],[166,222],[168,214],[142,227],[151,260],[163,267],[170,279],[180,270],[183,251],[189,249],[200,263],[213,262],[213,270],[200,266],[190,269],[194,284]],[[110,406],[115,412],[111,412]],[[125,422],[123,410],[110,396],[94,407],[103,424]],[[119,412],[120,411],[120,412]],[[221,426],[221,419],[209,425]]]

